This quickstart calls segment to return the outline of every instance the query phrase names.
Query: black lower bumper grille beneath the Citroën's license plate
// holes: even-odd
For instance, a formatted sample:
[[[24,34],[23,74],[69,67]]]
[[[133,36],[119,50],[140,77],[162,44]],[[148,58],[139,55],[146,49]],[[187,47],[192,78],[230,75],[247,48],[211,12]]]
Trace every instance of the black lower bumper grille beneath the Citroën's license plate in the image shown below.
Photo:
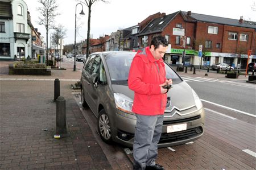
[[[159,143],[170,143],[196,137],[203,133],[202,127],[189,128],[184,131],[162,133]]]

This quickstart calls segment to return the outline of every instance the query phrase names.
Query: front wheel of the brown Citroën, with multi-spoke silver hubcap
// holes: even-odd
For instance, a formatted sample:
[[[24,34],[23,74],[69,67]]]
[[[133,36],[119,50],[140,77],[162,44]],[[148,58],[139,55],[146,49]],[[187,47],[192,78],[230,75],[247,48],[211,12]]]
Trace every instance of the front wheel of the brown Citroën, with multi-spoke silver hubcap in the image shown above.
[[[109,116],[104,109],[102,109],[98,115],[98,132],[104,142],[108,144],[113,142]]]

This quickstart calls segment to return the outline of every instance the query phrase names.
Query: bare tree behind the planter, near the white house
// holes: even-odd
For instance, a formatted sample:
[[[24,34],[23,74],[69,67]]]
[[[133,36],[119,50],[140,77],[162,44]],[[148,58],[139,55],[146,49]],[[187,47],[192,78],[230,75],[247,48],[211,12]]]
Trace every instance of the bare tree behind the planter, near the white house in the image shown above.
[[[48,64],[48,31],[54,28],[54,18],[59,15],[56,13],[57,5],[56,0],[38,0],[42,7],[38,7],[39,16],[38,24],[46,27],[46,62]]]

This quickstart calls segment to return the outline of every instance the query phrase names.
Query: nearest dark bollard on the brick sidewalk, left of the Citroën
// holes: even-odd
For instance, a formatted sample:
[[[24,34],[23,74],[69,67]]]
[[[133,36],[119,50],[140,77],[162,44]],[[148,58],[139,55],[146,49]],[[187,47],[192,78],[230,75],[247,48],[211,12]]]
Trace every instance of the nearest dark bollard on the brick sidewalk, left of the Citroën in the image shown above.
[[[56,99],[56,135],[64,137],[66,134],[66,101],[64,97],[59,96]]]

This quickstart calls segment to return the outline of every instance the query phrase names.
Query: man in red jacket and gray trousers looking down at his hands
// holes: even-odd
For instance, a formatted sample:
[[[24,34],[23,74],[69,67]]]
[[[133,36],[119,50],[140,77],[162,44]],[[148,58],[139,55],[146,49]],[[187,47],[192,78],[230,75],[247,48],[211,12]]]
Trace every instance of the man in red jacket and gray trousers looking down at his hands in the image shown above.
[[[134,169],[164,169],[155,160],[167,102],[168,89],[163,86],[172,84],[171,79],[166,79],[162,59],[167,47],[167,40],[156,36],[150,47],[139,51],[131,63],[128,85],[134,91],[132,111],[137,117],[133,144]]]

